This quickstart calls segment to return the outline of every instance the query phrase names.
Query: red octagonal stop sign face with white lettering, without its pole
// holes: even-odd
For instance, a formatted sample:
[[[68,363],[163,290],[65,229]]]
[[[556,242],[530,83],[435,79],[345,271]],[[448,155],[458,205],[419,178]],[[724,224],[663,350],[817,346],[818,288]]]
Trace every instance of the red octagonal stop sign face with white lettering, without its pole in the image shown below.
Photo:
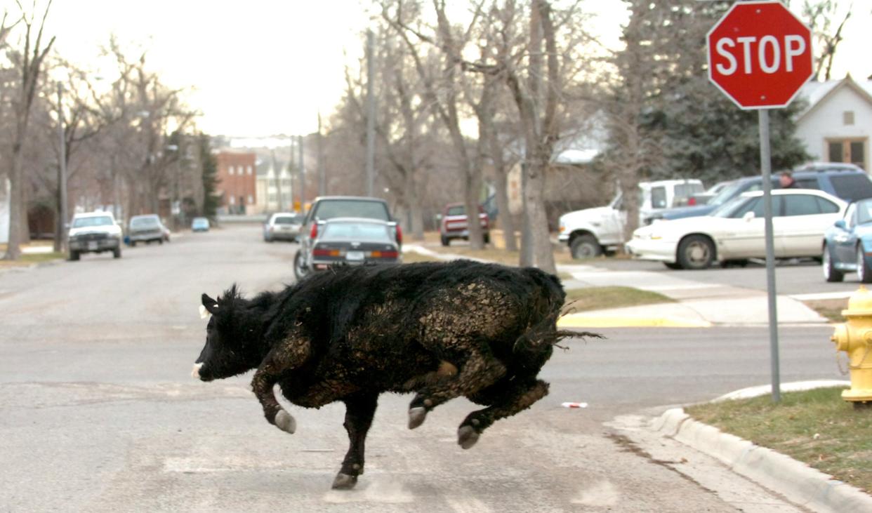
[[[709,79],[743,109],[787,106],[812,77],[811,30],[780,2],[734,3],[706,43]]]

